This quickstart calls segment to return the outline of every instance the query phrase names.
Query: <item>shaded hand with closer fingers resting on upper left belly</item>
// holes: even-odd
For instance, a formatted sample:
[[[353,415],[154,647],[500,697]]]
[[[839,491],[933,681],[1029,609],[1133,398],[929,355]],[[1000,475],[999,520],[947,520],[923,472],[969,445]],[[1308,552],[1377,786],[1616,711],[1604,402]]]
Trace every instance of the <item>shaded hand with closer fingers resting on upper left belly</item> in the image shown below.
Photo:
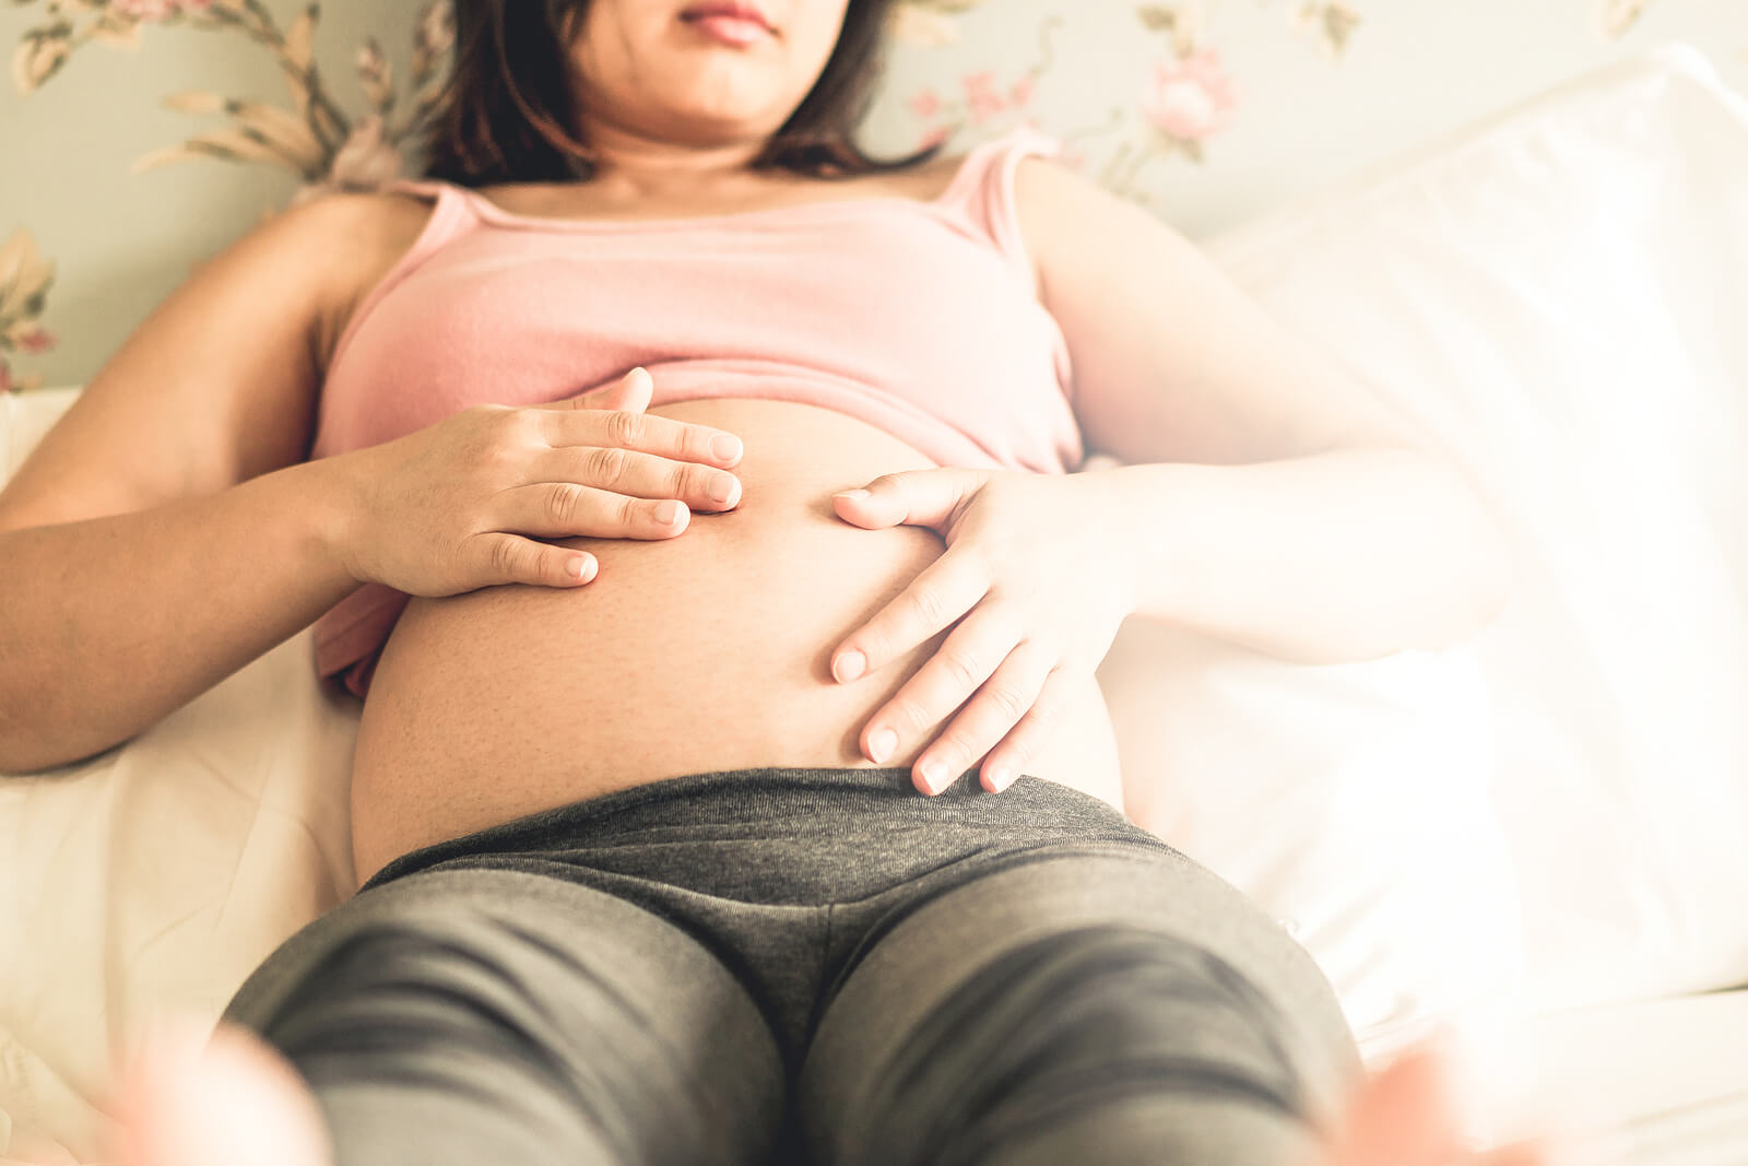
[[[734,509],[741,484],[725,467],[739,439],[647,414],[652,392],[633,369],[582,397],[475,406],[343,455],[348,570],[430,598],[575,587],[594,580],[594,556],[538,538],[673,538],[690,510]]]

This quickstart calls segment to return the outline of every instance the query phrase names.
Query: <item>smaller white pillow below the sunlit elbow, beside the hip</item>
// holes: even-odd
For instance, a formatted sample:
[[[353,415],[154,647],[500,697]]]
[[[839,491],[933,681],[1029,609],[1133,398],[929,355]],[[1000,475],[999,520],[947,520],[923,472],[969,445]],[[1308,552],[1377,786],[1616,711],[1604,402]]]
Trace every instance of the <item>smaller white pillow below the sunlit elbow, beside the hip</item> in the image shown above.
[[[1129,813],[1287,927],[1367,1063],[1510,998],[1517,893],[1468,650],[1308,666],[1131,619],[1098,675]]]

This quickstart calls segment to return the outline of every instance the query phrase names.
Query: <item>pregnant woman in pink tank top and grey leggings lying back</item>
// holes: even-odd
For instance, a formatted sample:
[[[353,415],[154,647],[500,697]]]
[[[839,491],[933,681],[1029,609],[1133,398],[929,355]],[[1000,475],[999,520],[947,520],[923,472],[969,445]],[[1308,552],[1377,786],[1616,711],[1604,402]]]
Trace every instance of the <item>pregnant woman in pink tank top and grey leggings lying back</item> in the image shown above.
[[[1092,673],[1451,642],[1496,537],[1045,142],[864,156],[884,7],[463,0],[427,177],[206,264],[0,495],[0,769],[311,622],[364,699],[360,892],[117,1159],[1482,1161],[1124,818]]]

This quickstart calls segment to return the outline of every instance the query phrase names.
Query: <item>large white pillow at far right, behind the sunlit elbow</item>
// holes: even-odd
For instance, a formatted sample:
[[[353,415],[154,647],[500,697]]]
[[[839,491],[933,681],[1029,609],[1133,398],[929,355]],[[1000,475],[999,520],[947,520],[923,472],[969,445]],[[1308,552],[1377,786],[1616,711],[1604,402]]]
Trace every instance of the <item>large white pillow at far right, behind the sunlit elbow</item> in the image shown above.
[[[1517,596],[1474,650],[1523,1007],[1748,981],[1748,105],[1666,45],[1211,252],[1514,538]],[[1435,860],[1453,895],[1474,874]]]

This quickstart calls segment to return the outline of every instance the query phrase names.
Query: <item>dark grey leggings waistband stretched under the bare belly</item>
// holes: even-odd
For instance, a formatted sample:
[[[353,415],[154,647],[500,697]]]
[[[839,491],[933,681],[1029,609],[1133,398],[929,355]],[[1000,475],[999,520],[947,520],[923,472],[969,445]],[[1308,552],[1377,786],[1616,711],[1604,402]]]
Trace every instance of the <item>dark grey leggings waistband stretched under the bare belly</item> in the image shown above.
[[[907,767],[767,766],[635,785],[421,846],[360,893],[437,865],[495,865],[818,906],[967,858],[1075,843],[1171,850],[1113,806],[1044,778],[989,794],[968,769],[926,797]]]

